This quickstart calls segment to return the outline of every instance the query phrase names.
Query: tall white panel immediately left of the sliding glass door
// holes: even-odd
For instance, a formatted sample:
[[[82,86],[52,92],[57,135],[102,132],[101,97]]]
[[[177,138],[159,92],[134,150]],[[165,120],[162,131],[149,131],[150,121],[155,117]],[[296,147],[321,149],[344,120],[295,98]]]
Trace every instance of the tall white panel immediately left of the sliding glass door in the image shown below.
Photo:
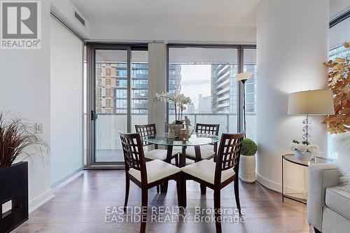
[[[51,18],[51,184],[83,167],[83,42]]]

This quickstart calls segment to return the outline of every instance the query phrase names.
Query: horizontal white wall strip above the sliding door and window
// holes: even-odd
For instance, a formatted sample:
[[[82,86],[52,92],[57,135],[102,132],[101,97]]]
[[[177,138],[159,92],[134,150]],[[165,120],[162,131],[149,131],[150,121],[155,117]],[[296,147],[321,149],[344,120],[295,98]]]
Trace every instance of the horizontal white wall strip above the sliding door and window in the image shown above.
[[[90,39],[100,41],[168,41],[255,43],[255,27],[161,24],[90,24]]]

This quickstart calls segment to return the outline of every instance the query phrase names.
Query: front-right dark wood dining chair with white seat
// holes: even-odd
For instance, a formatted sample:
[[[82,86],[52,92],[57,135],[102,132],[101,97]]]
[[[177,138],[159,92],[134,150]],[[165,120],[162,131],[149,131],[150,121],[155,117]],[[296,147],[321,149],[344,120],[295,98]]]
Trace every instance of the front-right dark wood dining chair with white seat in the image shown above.
[[[241,145],[244,138],[244,132],[239,134],[223,134],[221,136],[220,146],[216,162],[211,160],[202,160],[182,168],[183,185],[186,180],[197,181],[201,185],[214,190],[214,211],[216,232],[221,232],[221,189],[234,182],[235,199],[239,214],[241,213],[241,204],[239,203],[239,157]],[[186,206],[186,192],[184,192],[183,203]]]

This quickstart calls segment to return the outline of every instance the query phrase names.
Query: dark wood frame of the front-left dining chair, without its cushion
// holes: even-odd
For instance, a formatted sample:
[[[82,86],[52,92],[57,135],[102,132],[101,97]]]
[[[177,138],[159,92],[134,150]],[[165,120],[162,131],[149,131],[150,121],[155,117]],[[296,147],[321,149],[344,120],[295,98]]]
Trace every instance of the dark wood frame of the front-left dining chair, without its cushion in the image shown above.
[[[160,185],[161,183],[168,182],[169,180],[176,181],[177,195],[179,206],[183,206],[183,193],[182,190],[184,185],[182,184],[182,172],[179,171],[172,176],[167,176],[155,181],[153,183],[148,183],[147,180],[147,170],[146,170],[146,159],[144,156],[144,148],[142,146],[141,136],[138,133],[123,133],[120,132],[120,141],[123,146],[123,154],[125,160],[125,202],[124,211],[127,210],[127,201],[129,198],[130,181],[134,182],[139,188],[141,188],[141,227],[140,232],[146,232],[146,221],[147,221],[147,206],[148,206],[148,189]],[[134,176],[129,174],[130,169],[136,169],[140,171],[141,182],[137,180]]]

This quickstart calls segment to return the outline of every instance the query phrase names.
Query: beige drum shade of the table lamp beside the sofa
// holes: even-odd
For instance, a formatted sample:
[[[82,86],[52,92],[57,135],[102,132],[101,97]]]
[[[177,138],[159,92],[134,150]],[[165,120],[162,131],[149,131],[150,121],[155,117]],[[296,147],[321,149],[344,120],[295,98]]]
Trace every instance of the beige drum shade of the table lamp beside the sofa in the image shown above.
[[[289,94],[288,114],[334,115],[332,90],[308,90]]]

